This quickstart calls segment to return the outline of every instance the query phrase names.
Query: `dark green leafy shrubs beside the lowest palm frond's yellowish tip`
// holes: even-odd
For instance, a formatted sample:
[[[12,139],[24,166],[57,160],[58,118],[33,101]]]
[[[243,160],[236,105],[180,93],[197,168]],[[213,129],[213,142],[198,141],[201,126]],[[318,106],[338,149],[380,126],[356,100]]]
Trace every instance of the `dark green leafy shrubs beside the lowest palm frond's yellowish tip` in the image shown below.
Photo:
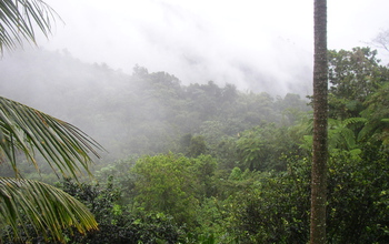
[[[62,183],[64,191],[73,194],[96,215],[99,230],[86,235],[69,235],[71,243],[179,243],[184,232],[171,216],[142,209],[118,205],[120,190],[110,179],[106,184],[79,185],[69,180]]]

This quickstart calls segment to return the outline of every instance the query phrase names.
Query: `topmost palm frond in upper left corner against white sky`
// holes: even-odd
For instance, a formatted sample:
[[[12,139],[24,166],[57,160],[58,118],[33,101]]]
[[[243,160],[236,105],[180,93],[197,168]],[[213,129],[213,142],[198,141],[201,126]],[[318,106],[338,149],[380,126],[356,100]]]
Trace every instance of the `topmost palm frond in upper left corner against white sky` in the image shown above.
[[[0,1],[0,52],[4,48],[14,48],[22,40],[36,43],[34,28],[48,37],[54,17],[58,14],[41,0],[1,0]]]

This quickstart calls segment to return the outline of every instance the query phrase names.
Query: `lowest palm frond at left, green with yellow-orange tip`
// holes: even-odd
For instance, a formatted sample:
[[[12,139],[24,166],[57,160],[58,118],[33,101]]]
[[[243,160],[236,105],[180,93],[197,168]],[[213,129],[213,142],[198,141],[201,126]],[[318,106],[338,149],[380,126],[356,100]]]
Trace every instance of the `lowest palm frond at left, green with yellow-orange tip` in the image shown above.
[[[46,183],[0,177],[0,220],[19,238],[27,225],[43,235],[63,241],[63,228],[80,233],[97,230],[97,222],[88,209],[68,193]],[[4,227],[4,226],[2,226]]]

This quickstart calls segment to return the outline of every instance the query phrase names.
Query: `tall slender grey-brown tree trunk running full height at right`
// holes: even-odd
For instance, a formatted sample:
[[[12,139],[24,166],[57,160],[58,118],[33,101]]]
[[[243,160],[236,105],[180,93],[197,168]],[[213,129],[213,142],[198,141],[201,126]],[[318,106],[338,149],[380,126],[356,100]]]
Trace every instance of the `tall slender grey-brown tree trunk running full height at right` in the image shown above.
[[[328,122],[327,0],[315,0],[313,161],[310,244],[326,243]]]

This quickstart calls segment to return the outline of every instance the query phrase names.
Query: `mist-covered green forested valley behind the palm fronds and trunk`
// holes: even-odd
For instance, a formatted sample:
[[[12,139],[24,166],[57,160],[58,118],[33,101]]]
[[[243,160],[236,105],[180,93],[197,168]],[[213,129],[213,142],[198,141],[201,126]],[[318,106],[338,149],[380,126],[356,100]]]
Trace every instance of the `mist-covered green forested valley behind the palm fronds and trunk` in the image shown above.
[[[389,243],[389,67],[370,48],[328,57],[328,243]],[[308,242],[311,95],[183,84],[141,65],[128,74],[66,50],[12,52],[0,73],[2,96],[104,149],[93,176],[79,181],[58,176],[39,152],[40,172],[18,162],[22,177],[58,186],[94,215],[98,230],[63,231],[69,243]],[[14,171],[0,164],[0,174]],[[26,243],[56,243],[32,227],[21,233]],[[10,230],[0,234],[16,243]]]

